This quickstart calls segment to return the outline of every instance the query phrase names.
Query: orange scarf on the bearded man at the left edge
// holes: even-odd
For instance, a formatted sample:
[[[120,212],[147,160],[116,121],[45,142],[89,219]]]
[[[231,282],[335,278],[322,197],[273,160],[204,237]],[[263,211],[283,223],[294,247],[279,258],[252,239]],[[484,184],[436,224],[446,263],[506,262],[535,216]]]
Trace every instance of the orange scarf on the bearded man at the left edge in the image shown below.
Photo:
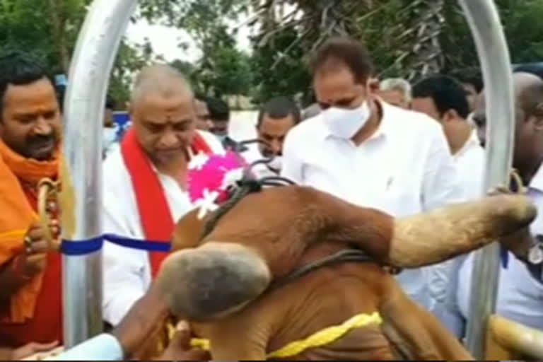
[[[59,151],[52,161],[37,161],[18,155],[0,141],[0,265],[23,251],[26,232],[37,221],[20,180],[37,186],[44,177],[56,177],[58,170]],[[33,317],[41,286],[42,275],[38,275],[11,298],[10,322]]]

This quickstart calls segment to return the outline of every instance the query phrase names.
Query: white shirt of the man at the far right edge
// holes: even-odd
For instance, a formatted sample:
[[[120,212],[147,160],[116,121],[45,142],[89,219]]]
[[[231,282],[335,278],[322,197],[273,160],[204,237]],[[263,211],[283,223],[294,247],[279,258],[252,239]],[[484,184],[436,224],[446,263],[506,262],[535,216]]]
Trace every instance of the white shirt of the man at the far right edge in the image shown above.
[[[530,182],[527,196],[537,207],[538,215],[530,226],[533,235],[543,234],[543,165]],[[501,267],[496,313],[528,327],[543,330],[543,284],[536,281],[525,265],[509,253],[507,269]],[[457,302],[464,317],[468,317],[473,255],[460,268]]]

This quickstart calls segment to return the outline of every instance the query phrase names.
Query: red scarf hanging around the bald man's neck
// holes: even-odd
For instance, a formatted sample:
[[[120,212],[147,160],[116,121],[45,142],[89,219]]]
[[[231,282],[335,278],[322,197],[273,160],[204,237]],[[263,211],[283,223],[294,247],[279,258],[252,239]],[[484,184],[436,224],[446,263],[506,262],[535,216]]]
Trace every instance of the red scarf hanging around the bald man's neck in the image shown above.
[[[191,150],[194,154],[211,153],[211,148],[198,132],[194,135]],[[132,187],[134,187],[134,196],[145,238],[148,241],[158,242],[170,240],[175,221],[158,175],[136,139],[133,129],[129,129],[124,134],[121,153],[132,180]],[[149,252],[153,278],[158,274],[160,265],[167,256],[165,252]]]

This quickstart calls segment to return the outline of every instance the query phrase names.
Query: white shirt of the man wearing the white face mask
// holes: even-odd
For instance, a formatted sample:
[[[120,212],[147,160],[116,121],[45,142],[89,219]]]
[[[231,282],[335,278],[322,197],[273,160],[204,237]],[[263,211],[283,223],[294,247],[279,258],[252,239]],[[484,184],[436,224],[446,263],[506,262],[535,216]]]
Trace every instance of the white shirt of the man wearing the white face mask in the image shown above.
[[[380,105],[380,127],[360,146],[332,136],[320,115],[298,124],[286,136],[281,175],[396,217],[459,201],[455,165],[440,125],[419,112]],[[428,277],[428,269],[421,268],[403,271],[397,279],[430,309]]]

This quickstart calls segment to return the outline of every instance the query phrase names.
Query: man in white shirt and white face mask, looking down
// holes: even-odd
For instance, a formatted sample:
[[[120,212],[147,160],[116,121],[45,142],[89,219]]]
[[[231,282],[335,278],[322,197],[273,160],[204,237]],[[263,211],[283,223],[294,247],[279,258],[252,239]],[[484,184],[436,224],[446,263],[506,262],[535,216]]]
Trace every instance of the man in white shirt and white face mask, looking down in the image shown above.
[[[312,70],[322,112],[286,137],[282,176],[392,216],[460,199],[439,124],[375,97],[373,64],[361,43],[329,40]],[[433,308],[427,269],[402,271],[398,280],[414,300]]]

